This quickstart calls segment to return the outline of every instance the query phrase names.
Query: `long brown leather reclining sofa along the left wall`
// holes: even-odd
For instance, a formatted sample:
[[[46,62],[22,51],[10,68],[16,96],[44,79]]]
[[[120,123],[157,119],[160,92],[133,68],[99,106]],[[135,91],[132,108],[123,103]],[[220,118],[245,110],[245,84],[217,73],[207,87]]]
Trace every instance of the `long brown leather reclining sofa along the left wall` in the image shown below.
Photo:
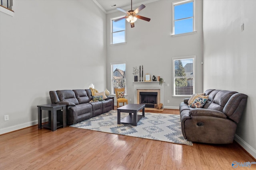
[[[67,124],[72,125],[114,109],[114,99],[90,102],[93,98],[90,89],[50,91],[52,104],[67,105]],[[57,113],[58,114],[58,113]]]

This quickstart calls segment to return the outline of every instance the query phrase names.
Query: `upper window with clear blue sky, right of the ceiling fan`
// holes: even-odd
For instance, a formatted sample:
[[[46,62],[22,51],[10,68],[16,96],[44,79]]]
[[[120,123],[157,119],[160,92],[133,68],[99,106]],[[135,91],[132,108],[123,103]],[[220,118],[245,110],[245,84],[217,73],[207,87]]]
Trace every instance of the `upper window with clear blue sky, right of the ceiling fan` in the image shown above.
[[[194,0],[184,0],[172,3],[172,35],[195,31],[194,3]]]

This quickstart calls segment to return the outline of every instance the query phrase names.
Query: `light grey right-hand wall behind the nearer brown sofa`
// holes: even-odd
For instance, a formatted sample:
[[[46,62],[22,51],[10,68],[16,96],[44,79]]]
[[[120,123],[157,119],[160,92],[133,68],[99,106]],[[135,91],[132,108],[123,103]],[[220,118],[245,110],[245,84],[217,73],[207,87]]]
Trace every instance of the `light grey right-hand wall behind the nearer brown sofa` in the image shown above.
[[[248,95],[235,140],[256,158],[256,1],[204,0],[204,90]],[[241,25],[244,23],[244,31]]]

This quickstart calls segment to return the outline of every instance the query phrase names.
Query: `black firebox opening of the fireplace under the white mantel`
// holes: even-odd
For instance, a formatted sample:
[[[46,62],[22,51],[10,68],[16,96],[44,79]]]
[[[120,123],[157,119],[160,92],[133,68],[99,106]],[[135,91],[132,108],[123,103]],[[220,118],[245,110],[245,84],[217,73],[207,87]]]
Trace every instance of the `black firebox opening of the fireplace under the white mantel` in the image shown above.
[[[145,107],[154,108],[157,103],[157,92],[140,92],[140,104],[145,104]]]

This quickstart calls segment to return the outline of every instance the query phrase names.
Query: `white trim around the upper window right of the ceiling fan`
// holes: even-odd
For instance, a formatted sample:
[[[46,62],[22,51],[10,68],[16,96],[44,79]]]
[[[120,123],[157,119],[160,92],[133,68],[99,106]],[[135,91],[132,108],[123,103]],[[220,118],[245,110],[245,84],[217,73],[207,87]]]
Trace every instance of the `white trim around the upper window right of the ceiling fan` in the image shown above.
[[[193,31],[188,33],[180,33],[180,34],[174,34],[175,26],[174,26],[174,6],[186,4],[189,2],[193,2]],[[182,0],[182,1],[176,1],[172,2],[172,36],[179,36],[179,35],[188,35],[196,33],[196,1],[195,0]]]

